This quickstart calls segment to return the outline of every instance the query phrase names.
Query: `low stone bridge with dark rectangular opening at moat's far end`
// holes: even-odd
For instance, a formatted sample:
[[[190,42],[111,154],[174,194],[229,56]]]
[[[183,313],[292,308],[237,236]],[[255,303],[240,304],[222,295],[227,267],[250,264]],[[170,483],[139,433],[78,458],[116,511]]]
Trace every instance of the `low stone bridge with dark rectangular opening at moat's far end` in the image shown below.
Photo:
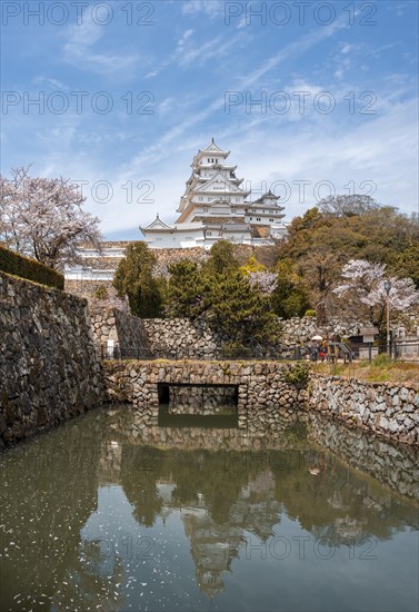
[[[217,416],[230,405],[238,426],[250,431],[275,427],[307,398],[308,371],[298,363],[129,361],[103,367],[108,399],[143,409],[149,425],[168,403],[168,387],[170,415]]]

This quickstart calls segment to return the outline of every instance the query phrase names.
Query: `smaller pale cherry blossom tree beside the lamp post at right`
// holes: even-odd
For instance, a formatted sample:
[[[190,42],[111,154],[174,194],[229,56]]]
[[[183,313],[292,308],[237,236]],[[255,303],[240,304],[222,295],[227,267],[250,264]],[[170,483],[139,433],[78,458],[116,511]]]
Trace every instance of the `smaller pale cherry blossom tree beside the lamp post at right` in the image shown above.
[[[365,259],[351,259],[342,269],[343,283],[333,293],[345,298],[346,307],[355,312],[366,306],[370,322],[382,330],[387,292],[385,280],[390,280],[388,299],[391,310],[403,312],[419,305],[419,292],[411,278],[385,278],[386,265],[371,264]],[[360,313],[361,314],[361,313]]]

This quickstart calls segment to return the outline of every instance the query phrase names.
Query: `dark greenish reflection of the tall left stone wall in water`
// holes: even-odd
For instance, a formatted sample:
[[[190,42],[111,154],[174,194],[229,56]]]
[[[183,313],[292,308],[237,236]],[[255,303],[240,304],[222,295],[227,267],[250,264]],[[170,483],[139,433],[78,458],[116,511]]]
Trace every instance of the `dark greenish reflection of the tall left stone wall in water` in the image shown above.
[[[46,602],[78,563],[80,530],[97,509],[101,437],[101,415],[86,417],[3,457],[0,537],[12,544],[0,560],[2,610],[17,609],[18,593],[26,603]]]

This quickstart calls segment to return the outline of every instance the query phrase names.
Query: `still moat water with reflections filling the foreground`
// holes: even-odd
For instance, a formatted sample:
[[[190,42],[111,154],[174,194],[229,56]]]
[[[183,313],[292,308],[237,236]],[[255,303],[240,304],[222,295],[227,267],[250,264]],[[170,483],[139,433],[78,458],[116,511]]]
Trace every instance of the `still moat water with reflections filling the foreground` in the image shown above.
[[[103,408],[0,454],[2,612],[418,610],[417,451],[178,425]]]

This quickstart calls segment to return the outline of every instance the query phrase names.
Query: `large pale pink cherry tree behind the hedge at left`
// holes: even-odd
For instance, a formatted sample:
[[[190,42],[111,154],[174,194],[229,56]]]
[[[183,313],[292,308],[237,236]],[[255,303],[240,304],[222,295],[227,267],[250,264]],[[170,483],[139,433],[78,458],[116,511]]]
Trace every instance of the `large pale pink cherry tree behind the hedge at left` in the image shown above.
[[[100,253],[99,219],[82,209],[86,198],[69,179],[33,178],[29,168],[0,176],[0,240],[51,268],[80,263],[78,246]]]

